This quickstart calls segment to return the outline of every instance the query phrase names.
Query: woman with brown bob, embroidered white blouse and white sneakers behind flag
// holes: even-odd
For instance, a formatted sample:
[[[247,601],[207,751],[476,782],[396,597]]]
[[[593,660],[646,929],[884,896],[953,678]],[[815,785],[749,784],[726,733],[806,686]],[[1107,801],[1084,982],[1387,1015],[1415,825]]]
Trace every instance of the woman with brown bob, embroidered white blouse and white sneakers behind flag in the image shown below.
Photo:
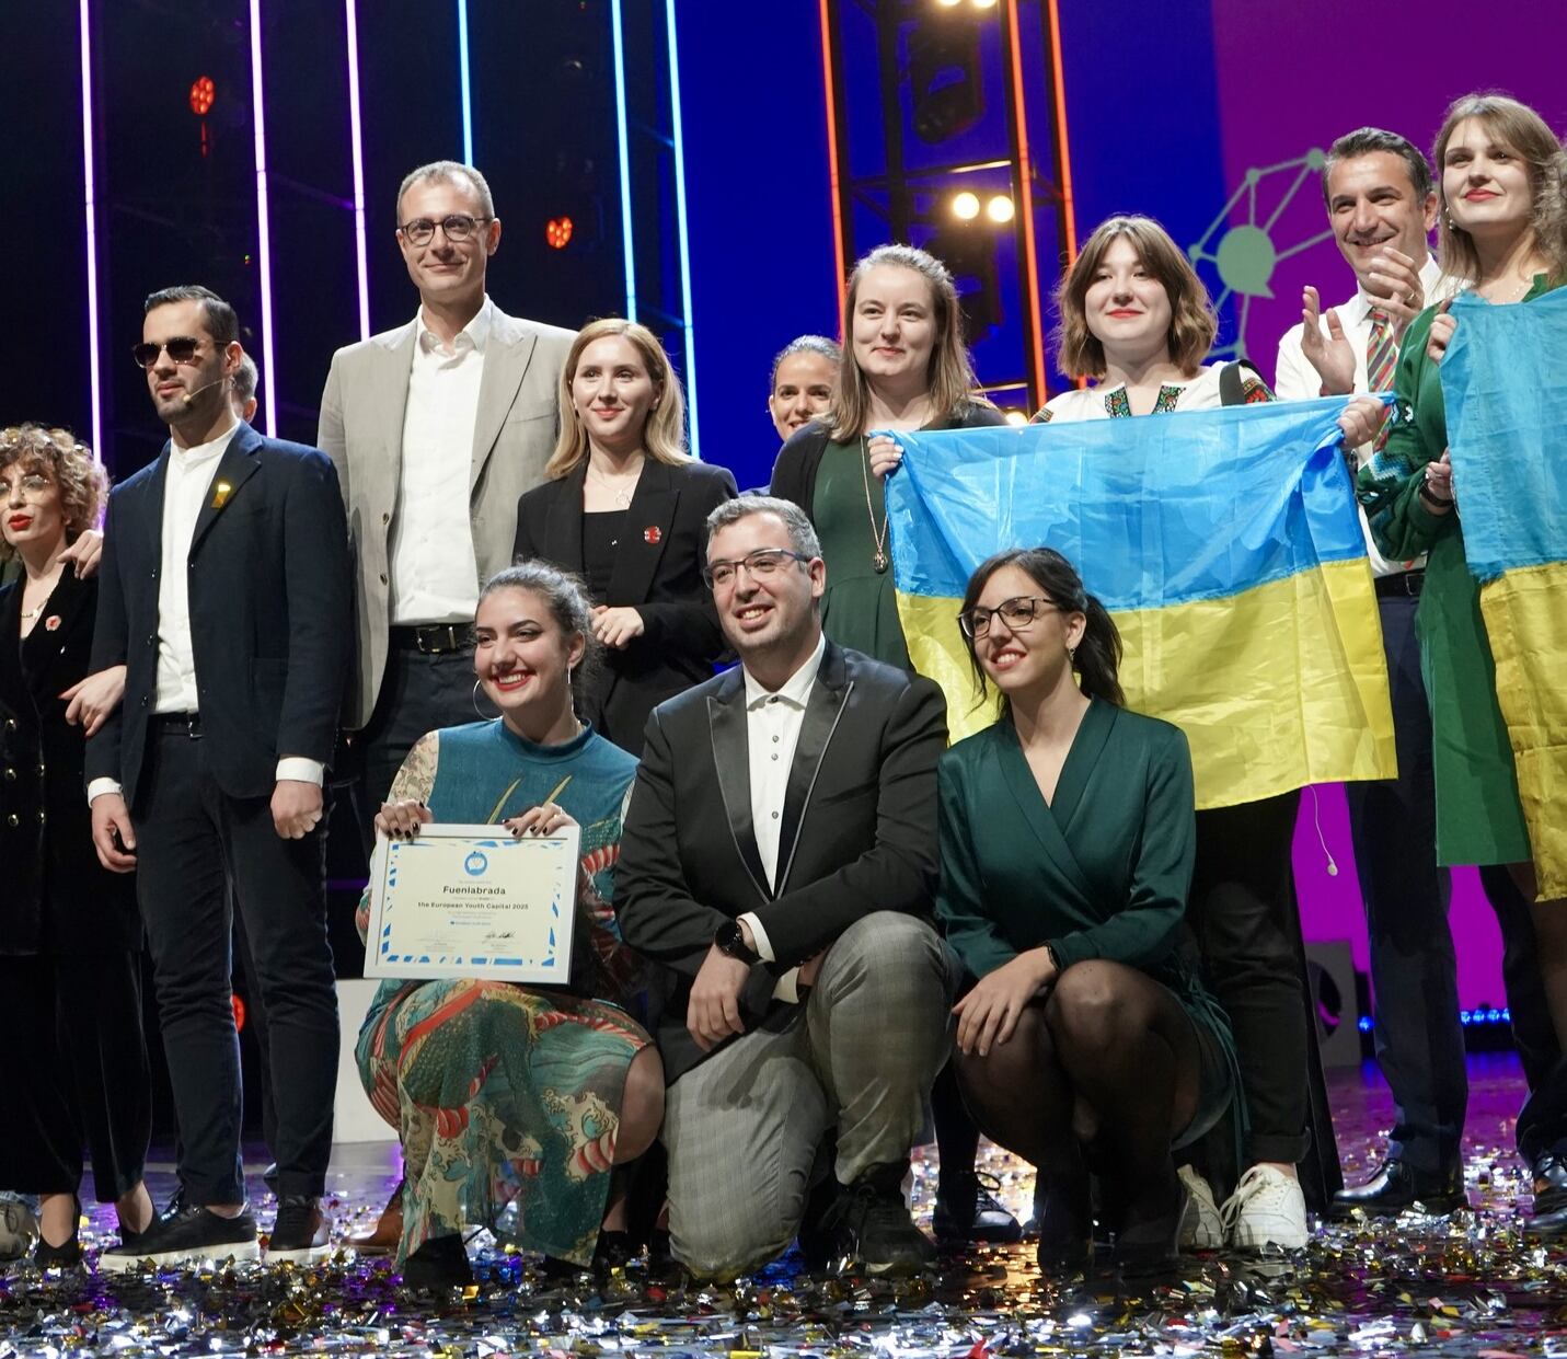
[[[1106,420],[1271,401],[1246,365],[1203,359],[1218,320],[1208,290],[1156,221],[1114,216],[1083,243],[1056,288],[1061,367],[1089,386],[1034,417]],[[1381,404],[1340,417],[1352,447],[1374,437]],[[1294,948],[1291,842],[1299,790],[1197,814],[1191,920],[1214,992],[1235,1024],[1249,1133],[1235,1194],[1221,1215],[1200,1177],[1192,1245],[1297,1249],[1307,1241],[1296,1176],[1308,1147],[1305,998]]]

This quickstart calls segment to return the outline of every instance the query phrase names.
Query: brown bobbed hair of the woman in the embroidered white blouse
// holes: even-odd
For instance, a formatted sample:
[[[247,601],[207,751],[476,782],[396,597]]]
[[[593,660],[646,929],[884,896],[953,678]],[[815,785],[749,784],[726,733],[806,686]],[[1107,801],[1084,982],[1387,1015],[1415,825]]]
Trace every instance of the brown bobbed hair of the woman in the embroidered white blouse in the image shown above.
[[[1208,288],[1180,246],[1167,230],[1150,216],[1127,213],[1102,221],[1094,234],[1083,241],[1083,249],[1072,268],[1056,285],[1056,348],[1061,354],[1061,371],[1072,378],[1103,378],[1105,346],[1087,328],[1087,290],[1098,273],[1109,248],[1125,237],[1142,260],[1142,266],[1164,285],[1171,299],[1171,329],[1166,345],[1171,362],[1191,375],[1202,367],[1213,337],[1219,332],[1219,320],[1213,313]]]

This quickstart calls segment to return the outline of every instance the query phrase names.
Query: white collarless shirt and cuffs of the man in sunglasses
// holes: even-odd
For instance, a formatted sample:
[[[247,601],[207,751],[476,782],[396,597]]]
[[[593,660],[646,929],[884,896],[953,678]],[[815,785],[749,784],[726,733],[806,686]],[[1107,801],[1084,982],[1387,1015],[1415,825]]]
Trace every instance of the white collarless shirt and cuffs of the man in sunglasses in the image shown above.
[[[163,480],[163,553],[158,563],[158,668],[152,687],[154,713],[201,712],[196,685],[196,652],[191,646],[190,555],[196,520],[207,503],[213,475],[229,440],[240,425],[235,420],[216,439],[180,448],[169,444],[169,466]],[[277,762],[279,779],[295,779],[320,787],[326,766],[302,756]],[[102,793],[124,792],[114,779],[92,779],[88,803]]]

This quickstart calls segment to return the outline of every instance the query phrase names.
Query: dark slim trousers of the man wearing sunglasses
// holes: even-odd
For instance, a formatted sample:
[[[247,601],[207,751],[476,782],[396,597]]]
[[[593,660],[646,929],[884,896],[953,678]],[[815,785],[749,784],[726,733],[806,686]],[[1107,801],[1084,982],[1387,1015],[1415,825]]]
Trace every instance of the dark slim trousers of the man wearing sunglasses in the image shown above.
[[[205,743],[155,723],[132,809],[136,897],[147,926],[158,1019],[193,1204],[244,1199],[240,1044],[230,1005],[229,889],[244,919],[266,1006],[279,1194],[320,1194],[332,1151],[337,984],[326,937],[323,834],[285,840],[271,798],[230,798]]]

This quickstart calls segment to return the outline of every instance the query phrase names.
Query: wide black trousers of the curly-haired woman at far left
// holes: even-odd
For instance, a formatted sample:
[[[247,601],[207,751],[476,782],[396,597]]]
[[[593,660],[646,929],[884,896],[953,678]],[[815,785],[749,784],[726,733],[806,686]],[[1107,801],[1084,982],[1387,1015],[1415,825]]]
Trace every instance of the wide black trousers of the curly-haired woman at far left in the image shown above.
[[[152,1135],[139,955],[0,958],[0,1185],[75,1193],[86,1146],[97,1201],[128,1194]]]

